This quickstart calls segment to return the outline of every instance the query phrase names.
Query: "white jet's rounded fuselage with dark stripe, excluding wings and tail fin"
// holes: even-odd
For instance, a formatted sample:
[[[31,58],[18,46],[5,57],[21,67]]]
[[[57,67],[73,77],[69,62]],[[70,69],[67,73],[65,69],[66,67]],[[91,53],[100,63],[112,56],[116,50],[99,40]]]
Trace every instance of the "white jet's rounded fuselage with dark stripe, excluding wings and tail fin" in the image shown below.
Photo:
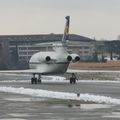
[[[31,69],[40,70],[44,74],[65,73],[72,58],[63,48],[62,44],[55,46],[54,51],[38,52],[34,54],[29,61],[29,67]]]

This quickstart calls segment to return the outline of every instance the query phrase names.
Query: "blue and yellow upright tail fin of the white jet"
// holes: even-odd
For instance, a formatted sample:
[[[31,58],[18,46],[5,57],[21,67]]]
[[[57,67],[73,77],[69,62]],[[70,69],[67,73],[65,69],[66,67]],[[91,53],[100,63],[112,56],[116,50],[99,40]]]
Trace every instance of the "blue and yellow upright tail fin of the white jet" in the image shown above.
[[[70,25],[70,16],[66,16],[66,24],[64,29],[64,34],[62,38],[62,42],[65,43],[67,40],[69,40],[69,25]]]

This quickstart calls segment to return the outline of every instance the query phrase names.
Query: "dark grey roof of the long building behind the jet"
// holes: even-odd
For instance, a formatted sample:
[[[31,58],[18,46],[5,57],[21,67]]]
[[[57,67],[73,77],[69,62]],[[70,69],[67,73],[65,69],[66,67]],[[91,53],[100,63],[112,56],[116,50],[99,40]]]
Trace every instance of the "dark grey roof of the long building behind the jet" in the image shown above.
[[[61,41],[62,34],[40,34],[40,35],[0,35],[0,41],[9,41],[11,44],[13,43],[41,43],[41,42],[55,42],[55,41]],[[70,40],[71,41],[82,41],[82,42],[91,42],[95,41],[93,39],[76,35],[76,34],[70,34]]]

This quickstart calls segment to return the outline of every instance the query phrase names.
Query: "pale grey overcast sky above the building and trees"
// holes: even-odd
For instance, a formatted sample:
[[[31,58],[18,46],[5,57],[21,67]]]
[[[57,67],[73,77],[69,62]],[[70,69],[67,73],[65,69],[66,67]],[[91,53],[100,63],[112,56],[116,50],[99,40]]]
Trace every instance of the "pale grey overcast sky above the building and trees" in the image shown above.
[[[70,33],[96,39],[120,35],[120,0],[0,0],[0,35]]]

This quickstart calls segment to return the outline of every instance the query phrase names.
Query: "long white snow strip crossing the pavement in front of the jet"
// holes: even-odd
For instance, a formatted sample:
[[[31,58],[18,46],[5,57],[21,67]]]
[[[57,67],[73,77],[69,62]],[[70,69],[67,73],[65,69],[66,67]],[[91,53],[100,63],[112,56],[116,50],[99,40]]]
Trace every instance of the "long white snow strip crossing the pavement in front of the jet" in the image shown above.
[[[22,95],[30,95],[32,97],[42,97],[42,98],[53,98],[61,100],[75,100],[75,101],[84,101],[84,102],[95,102],[95,103],[104,103],[104,104],[120,104],[120,99],[99,96],[92,94],[80,94],[77,96],[77,93],[66,93],[66,92],[54,92],[41,89],[29,89],[29,88],[14,88],[14,87],[0,87],[1,92],[15,93]]]

